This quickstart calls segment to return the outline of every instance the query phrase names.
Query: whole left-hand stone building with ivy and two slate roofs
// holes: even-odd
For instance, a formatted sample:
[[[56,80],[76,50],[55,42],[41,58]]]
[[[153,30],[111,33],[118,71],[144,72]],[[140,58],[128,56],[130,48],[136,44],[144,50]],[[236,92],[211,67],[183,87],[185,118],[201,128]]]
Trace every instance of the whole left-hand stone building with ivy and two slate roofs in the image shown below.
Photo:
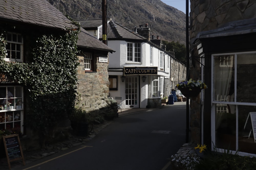
[[[26,77],[29,79],[29,75],[33,75],[31,72],[41,73],[37,74],[39,75],[39,78],[41,75],[46,75],[45,82],[46,84],[50,84],[52,89],[55,89],[55,91],[51,91],[51,89],[42,89],[38,92],[38,94],[33,94],[33,92],[30,93],[30,87],[31,86],[38,86],[38,84],[42,84],[42,79],[37,82],[29,82],[29,84],[26,84],[23,80],[15,80],[15,76],[7,75],[7,78],[4,78],[5,75],[3,72],[1,72],[1,79],[0,79],[0,130],[17,130],[17,132],[21,132],[26,139],[29,139],[29,142],[24,142],[26,145],[30,145],[31,142],[41,142],[38,140],[37,132],[35,126],[39,126],[38,124],[41,123],[40,120],[34,121],[32,119],[32,123],[35,125],[34,129],[31,130],[28,123],[25,124],[25,121],[28,121],[28,118],[30,116],[34,117],[44,117],[46,115],[45,110],[49,111],[50,114],[48,117],[45,116],[43,119],[45,122],[47,120],[53,120],[52,126],[48,126],[46,124],[41,123],[41,127],[50,129],[48,131],[48,134],[45,133],[45,136],[48,136],[48,140],[58,140],[58,137],[67,137],[70,135],[71,132],[71,126],[70,121],[67,120],[68,114],[70,114],[73,110],[73,99],[71,100],[70,96],[75,95],[75,89],[76,89],[76,78],[78,78],[77,83],[77,92],[79,95],[79,106],[83,107],[84,110],[87,112],[96,112],[99,113],[100,111],[106,112],[106,110],[113,111],[113,108],[110,108],[109,105],[111,102],[109,102],[108,99],[108,93],[109,93],[109,82],[108,82],[108,53],[114,52],[113,49],[109,48],[107,45],[99,41],[97,38],[91,36],[86,30],[81,29],[81,32],[78,35],[78,42],[75,44],[75,40],[71,43],[72,46],[66,45],[63,42],[60,41],[61,37],[64,37],[65,35],[71,34],[72,31],[77,30],[77,26],[73,24],[71,20],[69,20],[65,15],[63,15],[60,11],[58,11],[55,7],[53,7],[49,2],[46,0],[26,0],[17,2],[14,0],[10,1],[1,1],[0,2],[0,28],[1,28],[1,63],[13,63],[16,64],[13,66],[15,68],[15,73],[17,72],[17,75]],[[46,15],[47,12],[47,15]],[[42,37],[53,37],[50,39],[51,42],[58,41],[61,42],[58,44],[58,47],[60,49],[65,48],[65,53],[61,53],[58,50],[51,49],[54,45],[47,42],[48,44],[51,44],[51,47],[47,48],[43,46],[42,44],[39,44],[41,40],[43,40]],[[57,39],[57,38],[59,39]],[[54,39],[56,38],[56,39]],[[38,40],[39,39],[39,40]],[[48,39],[47,39],[48,40]],[[62,39],[61,39],[62,40]],[[5,43],[5,47],[3,44]],[[67,41],[65,39],[65,41]],[[38,45],[39,44],[39,45]],[[41,45],[41,46],[40,46]],[[43,46],[43,47],[42,47]],[[62,47],[65,46],[65,47]],[[77,49],[81,52],[80,54],[77,54],[78,61],[76,61],[76,54],[73,55],[72,53],[72,59],[71,55],[68,55],[70,51],[67,49]],[[34,54],[34,49],[44,49],[43,54]],[[6,51],[6,52],[5,52]],[[40,51],[40,50],[37,50]],[[57,52],[56,52],[57,51]],[[76,51],[76,50],[74,50]],[[62,52],[62,51],[61,51]],[[55,54],[55,58],[49,57],[49,53]],[[67,55],[66,55],[67,54]],[[47,62],[44,60],[44,58],[53,58],[52,60],[47,60]],[[59,60],[58,60],[59,57]],[[41,60],[33,60],[34,58],[42,58]],[[48,59],[47,58],[47,59]],[[60,60],[62,62],[60,62]],[[63,60],[65,60],[65,63],[63,64]],[[31,62],[34,61],[34,62]],[[29,70],[27,68],[33,68],[32,66],[36,65],[35,63],[40,63],[38,65],[46,65],[41,64],[40,61],[46,62],[48,65],[51,65],[51,67],[48,67],[48,69],[41,69],[37,70],[38,67],[34,67],[33,70]],[[73,68],[72,66],[76,66],[76,62],[79,62],[78,68]],[[6,64],[7,65],[7,64]],[[47,65],[47,66],[48,66]],[[9,65],[7,65],[9,66]],[[30,71],[31,74],[24,74],[27,72],[22,72],[23,70],[18,68],[23,67],[17,67],[17,66],[27,66],[24,67],[28,71]],[[50,77],[50,75],[55,75],[55,73],[51,72],[51,68],[60,68],[60,70],[72,70],[71,72],[64,72],[66,74],[59,75],[60,73],[57,72],[56,77],[60,77],[57,79],[56,77],[53,77],[51,79],[47,79]],[[25,70],[24,69],[24,70]],[[10,69],[12,70],[12,69]],[[26,71],[27,71],[26,70]],[[2,71],[2,70],[1,70]],[[78,71],[78,72],[77,72]],[[43,76],[42,76],[43,77]],[[72,85],[67,80],[70,80],[66,77],[72,79]],[[19,77],[18,77],[19,78]],[[16,79],[18,79],[16,77]],[[61,80],[63,81],[61,81]],[[22,82],[23,81],[23,82]],[[20,83],[21,82],[21,83]],[[25,82],[25,83],[24,83]],[[38,84],[37,84],[38,83]],[[44,86],[48,87],[48,86]],[[60,87],[63,87],[60,89]],[[65,90],[63,90],[65,89]],[[71,89],[71,90],[70,90]],[[44,90],[44,91],[43,91]],[[60,91],[62,90],[62,91]],[[70,91],[69,91],[70,90]],[[42,93],[40,93],[43,91]],[[46,92],[45,92],[46,91]],[[67,93],[70,92],[70,93]],[[69,94],[69,95],[66,95]],[[49,96],[53,100],[53,97],[58,98],[58,100],[54,100],[55,103],[58,104],[60,100],[64,100],[61,107],[57,107],[55,109],[52,109],[53,106],[50,106],[48,104],[47,106],[41,104],[40,109],[33,108],[31,106],[32,104],[29,103],[31,101],[31,98],[33,96],[40,96],[41,98],[44,98],[45,96]],[[64,97],[63,97],[64,96]],[[69,98],[70,97],[70,98]],[[39,97],[38,97],[39,98]],[[40,99],[41,99],[40,98]],[[50,100],[45,99],[46,102],[50,102]],[[41,101],[41,100],[40,100]],[[72,101],[72,102],[70,102]],[[54,103],[53,101],[51,103]],[[56,105],[57,105],[56,104]],[[114,104],[116,106],[116,103]],[[117,107],[115,107],[115,111],[117,112]],[[58,119],[54,117],[54,113],[59,112],[62,114],[62,116],[59,116]],[[35,113],[35,114],[33,114]],[[47,118],[46,118],[47,117]],[[44,122],[44,123],[45,123]],[[61,125],[60,126],[58,126]],[[56,130],[58,129],[58,130]],[[11,132],[11,131],[10,131]],[[39,134],[40,132],[38,132]],[[65,134],[65,135],[63,135]],[[1,134],[2,135],[2,134]],[[31,139],[31,140],[30,140]],[[34,141],[34,139],[36,141]],[[24,139],[25,140],[25,139]],[[43,142],[42,142],[43,143]],[[38,146],[38,145],[37,145]]]

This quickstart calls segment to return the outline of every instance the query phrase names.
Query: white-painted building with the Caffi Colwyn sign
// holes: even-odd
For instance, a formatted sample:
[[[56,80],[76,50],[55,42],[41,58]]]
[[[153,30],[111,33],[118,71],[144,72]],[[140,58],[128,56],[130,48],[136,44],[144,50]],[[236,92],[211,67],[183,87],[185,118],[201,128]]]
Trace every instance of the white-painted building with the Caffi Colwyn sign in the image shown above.
[[[94,25],[93,20],[78,22],[96,38],[102,38],[98,20]],[[157,108],[161,98],[171,93],[173,56],[165,51],[159,37],[150,37],[150,33],[147,24],[131,30],[113,20],[107,22],[107,45],[116,51],[109,54],[109,96],[121,97],[117,100],[122,101],[121,108]]]

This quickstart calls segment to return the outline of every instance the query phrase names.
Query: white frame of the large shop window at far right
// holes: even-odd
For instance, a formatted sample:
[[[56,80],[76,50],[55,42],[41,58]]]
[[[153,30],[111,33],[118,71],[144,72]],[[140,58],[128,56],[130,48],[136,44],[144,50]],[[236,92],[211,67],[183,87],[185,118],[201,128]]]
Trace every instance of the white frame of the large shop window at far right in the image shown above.
[[[227,151],[225,149],[221,149],[221,148],[214,148],[214,146],[216,146],[216,136],[215,136],[215,105],[226,105],[226,104],[230,104],[230,105],[234,105],[236,106],[236,150],[238,150],[238,106],[256,106],[256,103],[247,103],[247,102],[237,102],[236,101],[236,86],[237,83],[235,83],[235,87],[234,87],[234,101],[218,101],[218,100],[214,100],[214,56],[225,56],[225,55],[234,55],[234,82],[237,82],[237,55],[238,54],[249,54],[249,53],[256,53],[256,51],[244,51],[244,52],[237,52],[237,53],[220,53],[220,54],[212,54],[211,55],[211,136],[212,136],[212,146],[211,149],[217,149],[219,152],[224,152]],[[220,61],[221,62],[221,61]],[[223,62],[224,63],[224,62]],[[220,67],[232,67],[231,64],[228,63],[232,63],[233,62],[225,62],[226,64],[220,64]],[[232,154],[235,154],[236,151],[230,151]],[[239,155],[241,156],[247,156],[247,155],[251,155],[251,156],[256,156],[256,154],[251,154],[251,153],[245,153],[245,152],[238,152]]]

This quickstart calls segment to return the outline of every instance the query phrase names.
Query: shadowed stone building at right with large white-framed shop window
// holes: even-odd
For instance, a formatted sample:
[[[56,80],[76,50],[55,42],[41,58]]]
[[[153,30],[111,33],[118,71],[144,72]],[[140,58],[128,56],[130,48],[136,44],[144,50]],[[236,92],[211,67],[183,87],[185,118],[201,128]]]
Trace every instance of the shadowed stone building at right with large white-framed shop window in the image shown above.
[[[190,2],[190,77],[208,86],[191,98],[191,140],[255,156],[256,2]]]

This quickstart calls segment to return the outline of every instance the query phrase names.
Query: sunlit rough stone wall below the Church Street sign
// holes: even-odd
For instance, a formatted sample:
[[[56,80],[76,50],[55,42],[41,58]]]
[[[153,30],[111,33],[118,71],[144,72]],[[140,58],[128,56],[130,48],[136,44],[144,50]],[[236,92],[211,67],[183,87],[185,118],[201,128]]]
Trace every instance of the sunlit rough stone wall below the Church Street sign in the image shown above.
[[[87,113],[118,112],[117,107],[113,109],[109,105],[108,63],[99,62],[97,56],[97,72],[85,72],[84,57],[78,55],[78,60],[80,64],[78,66],[77,92],[80,96],[77,96],[77,105]]]

